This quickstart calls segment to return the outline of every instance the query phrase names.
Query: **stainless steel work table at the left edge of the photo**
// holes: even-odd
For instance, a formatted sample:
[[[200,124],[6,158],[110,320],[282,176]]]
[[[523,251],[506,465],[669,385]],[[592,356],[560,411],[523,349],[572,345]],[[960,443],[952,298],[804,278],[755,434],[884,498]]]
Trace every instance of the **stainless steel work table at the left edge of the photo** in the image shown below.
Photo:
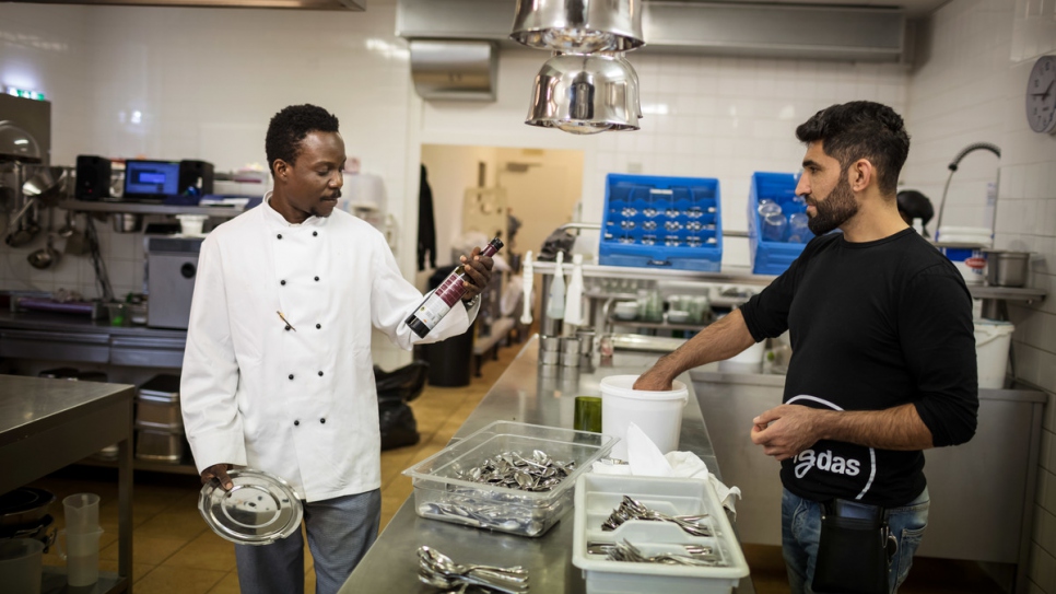
[[[118,445],[118,573],[94,592],[131,592],[132,396],[134,386],[0,375],[0,493]],[[46,570],[43,592],[64,591]]]

